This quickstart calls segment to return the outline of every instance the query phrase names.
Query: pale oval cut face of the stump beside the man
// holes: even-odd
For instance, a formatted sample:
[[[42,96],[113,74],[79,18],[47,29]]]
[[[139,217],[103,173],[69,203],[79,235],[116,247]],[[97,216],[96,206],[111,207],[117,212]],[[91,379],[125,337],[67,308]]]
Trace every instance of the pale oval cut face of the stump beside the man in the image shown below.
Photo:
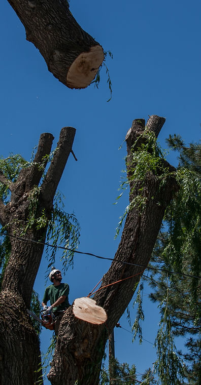
[[[107,321],[107,314],[103,307],[88,297],[77,298],[73,304],[73,313],[76,318],[90,324],[101,325]]]

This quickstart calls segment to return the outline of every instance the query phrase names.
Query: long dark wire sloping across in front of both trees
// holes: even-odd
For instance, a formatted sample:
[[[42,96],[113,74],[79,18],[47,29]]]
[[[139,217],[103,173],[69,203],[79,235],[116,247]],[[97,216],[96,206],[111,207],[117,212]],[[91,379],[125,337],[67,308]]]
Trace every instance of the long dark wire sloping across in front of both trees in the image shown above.
[[[87,253],[87,252],[84,252],[84,251],[73,250],[73,249],[70,249],[68,247],[50,245],[49,243],[46,243],[46,242],[35,241],[33,239],[21,238],[21,237],[17,237],[15,235],[11,235],[11,234],[2,233],[2,235],[5,235],[7,237],[16,238],[16,239],[19,239],[21,241],[38,243],[40,245],[45,245],[45,246],[53,247],[55,249],[69,250],[69,251],[77,253],[77,254],[85,254],[85,255],[90,255],[92,257],[99,258],[99,259],[107,259],[107,260],[114,261],[114,262],[120,262],[122,264],[127,264],[127,265],[130,265],[130,266],[146,267],[148,270],[160,271],[160,272],[165,272],[165,273],[169,273],[169,274],[178,274],[180,276],[185,276],[185,277],[189,277],[189,278],[201,279],[201,277],[199,277],[199,276],[194,276],[194,275],[190,275],[190,274],[184,274],[184,273],[180,273],[180,272],[173,272],[173,271],[166,270],[165,268],[155,268],[155,267],[150,267],[150,266],[146,266],[146,265],[143,265],[143,264],[125,262],[125,261],[122,261],[121,259],[117,259],[117,258],[114,259],[114,258],[109,258],[109,257],[102,257],[100,255],[96,255],[96,254],[92,254],[92,253]]]

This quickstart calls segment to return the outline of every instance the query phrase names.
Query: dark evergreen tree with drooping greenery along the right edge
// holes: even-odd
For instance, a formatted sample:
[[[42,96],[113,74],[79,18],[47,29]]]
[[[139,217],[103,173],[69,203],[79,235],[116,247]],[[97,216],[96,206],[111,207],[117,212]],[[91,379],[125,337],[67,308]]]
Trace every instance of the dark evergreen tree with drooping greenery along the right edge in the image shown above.
[[[186,147],[181,137],[175,135],[170,136],[168,144],[179,151],[180,189],[166,209],[152,256],[151,267],[156,270],[149,277],[154,289],[150,297],[152,301],[160,303],[161,311],[155,371],[163,385],[166,381],[169,384],[197,385],[201,384],[201,282],[197,278],[201,272],[201,143],[190,143]],[[159,272],[158,268],[162,271]],[[186,338],[187,352],[176,352],[175,336]],[[168,350],[168,355],[164,350]],[[164,356],[168,359],[166,365],[170,367],[169,373],[165,371]],[[184,359],[185,366],[181,361],[179,363],[178,356]]]

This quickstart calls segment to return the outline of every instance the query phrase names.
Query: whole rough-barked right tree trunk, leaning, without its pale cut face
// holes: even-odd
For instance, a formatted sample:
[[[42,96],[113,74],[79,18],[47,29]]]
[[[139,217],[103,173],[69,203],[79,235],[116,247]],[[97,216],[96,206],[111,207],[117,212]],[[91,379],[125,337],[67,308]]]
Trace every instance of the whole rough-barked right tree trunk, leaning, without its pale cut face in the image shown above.
[[[147,127],[157,136],[164,121],[164,118],[152,115]],[[133,121],[126,135],[128,175],[131,146],[144,130],[145,121],[137,119]],[[165,165],[170,167],[170,171],[175,170],[168,162]],[[140,185],[134,188],[130,200],[138,195],[139,187]],[[107,313],[108,320],[105,325],[95,326],[81,320],[75,321],[71,307],[65,313],[48,375],[52,385],[74,385],[76,380],[79,385],[98,384],[106,340],[130,302],[144,266],[147,266],[151,258],[165,207],[170,203],[177,188],[174,177],[169,177],[165,187],[159,189],[157,175],[147,174],[143,188],[143,194],[147,198],[146,208],[142,213],[136,208],[128,212],[118,250],[109,271],[103,277],[102,287],[135,274],[136,276],[103,288],[94,295],[96,303]]]

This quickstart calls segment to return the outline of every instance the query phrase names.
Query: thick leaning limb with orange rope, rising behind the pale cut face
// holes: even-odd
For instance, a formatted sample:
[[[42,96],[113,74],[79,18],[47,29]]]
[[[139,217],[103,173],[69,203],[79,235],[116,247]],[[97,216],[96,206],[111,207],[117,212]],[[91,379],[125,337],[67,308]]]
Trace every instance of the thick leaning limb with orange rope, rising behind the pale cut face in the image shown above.
[[[164,122],[164,118],[152,115],[147,122],[146,128],[152,130],[157,136]],[[132,145],[136,142],[144,130],[144,119],[136,119],[132,122],[132,126],[126,135],[128,157],[131,153]],[[166,164],[168,165],[168,162],[166,162]],[[129,162],[127,162],[127,165],[129,172]],[[139,209],[135,207],[129,210],[122,238],[115,254],[115,259],[147,266],[160,229],[165,207],[172,199],[175,191],[176,181],[173,177],[170,177],[167,181],[165,189],[162,190],[159,189],[159,180],[157,176],[148,175],[144,180],[143,186],[143,196],[147,201],[146,208],[142,213],[140,213]],[[132,201],[134,197],[138,196],[140,187],[140,184],[136,185],[134,189],[132,186],[132,192],[129,197],[130,201]],[[116,322],[118,322],[118,319],[121,317],[125,307],[131,300],[133,290],[143,274],[143,266],[129,266],[114,261],[112,262],[108,273],[104,276],[102,286],[136,274],[135,277],[129,280],[100,290],[94,296],[97,303],[103,306],[108,314],[107,325],[109,332],[115,326]]]

